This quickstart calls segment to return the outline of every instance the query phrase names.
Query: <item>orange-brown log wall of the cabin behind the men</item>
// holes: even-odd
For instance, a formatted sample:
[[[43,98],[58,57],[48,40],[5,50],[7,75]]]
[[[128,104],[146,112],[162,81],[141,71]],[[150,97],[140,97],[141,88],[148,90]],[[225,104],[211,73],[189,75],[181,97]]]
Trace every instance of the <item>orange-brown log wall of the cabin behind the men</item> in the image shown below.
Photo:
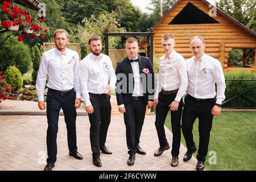
[[[204,1],[178,1],[164,16],[164,19],[160,20],[154,27],[154,53],[164,53],[161,45],[161,38],[163,34],[169,33],[175,37],[175,50],[187,60],[192,56],[189,40],[192,36],[201,35],[204,37],[205,43],[207,44],[205,53],[220,60],[224,71],[228,71],[228,53],[232,48],[256,49],[256,34],[253,35],[253,33],[246,31],[245,28],[238,26],[219,11],[217,11],[216,16],[212,16],[218,23],[169,24],[174,20],[175,16],[188,5],[188,3],[192,3],[192,5],[196,6],[207,15],[209,14],[209,11],[213,13],[212,7],[209,7]],[[146,42],[142,43],[140,46],[146,49]],[[245,69],[256,72],[255,68]]]

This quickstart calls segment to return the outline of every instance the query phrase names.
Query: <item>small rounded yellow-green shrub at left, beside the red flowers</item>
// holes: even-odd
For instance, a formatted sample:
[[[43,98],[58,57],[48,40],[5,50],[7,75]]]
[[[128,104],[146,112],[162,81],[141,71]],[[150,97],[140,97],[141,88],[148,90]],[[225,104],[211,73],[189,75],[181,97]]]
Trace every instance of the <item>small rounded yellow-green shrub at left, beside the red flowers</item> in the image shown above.
[[[15,90],[20,89],[23,85],[22,74],[20,73],[19,69],[15,66],[10,66],[6,69],[5,78],[7,83],[15,87]]]

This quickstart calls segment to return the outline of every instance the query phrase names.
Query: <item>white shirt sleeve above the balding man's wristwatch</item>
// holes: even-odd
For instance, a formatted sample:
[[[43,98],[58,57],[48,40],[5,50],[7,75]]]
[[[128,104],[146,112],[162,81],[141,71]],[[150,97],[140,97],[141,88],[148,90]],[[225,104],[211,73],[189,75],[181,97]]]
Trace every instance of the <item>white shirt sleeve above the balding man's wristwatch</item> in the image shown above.
[[[214,81],[217,83],[217,95],[216,95],[216,104],[222,104],[222,101],[225,100],[225,77],[222,71],[221,63],[218,61],[217,64],[214,65],[213,72]]]

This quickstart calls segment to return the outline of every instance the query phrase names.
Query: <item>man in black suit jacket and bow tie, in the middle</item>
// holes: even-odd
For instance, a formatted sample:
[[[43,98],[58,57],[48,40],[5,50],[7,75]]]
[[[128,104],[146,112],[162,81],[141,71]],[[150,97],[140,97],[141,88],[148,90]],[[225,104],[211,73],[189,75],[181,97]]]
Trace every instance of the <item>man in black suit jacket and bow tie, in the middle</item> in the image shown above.
[[[126,40],[125,49],[128,57],[117,63],[117,104],[123,113],[126,126],[126,143],[130,155],[127,165],[133,166],[136,152],[146,155],[139,146],[146,106],[154,104],[154,71],[148,57],[138,56],[138,41]]]

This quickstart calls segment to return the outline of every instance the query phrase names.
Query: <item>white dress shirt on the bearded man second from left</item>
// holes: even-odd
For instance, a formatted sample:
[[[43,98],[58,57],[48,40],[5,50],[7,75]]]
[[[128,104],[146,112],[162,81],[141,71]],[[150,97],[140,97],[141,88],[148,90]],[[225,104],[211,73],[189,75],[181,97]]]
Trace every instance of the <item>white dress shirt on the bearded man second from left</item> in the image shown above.
[[[81,100],[85,106],[92,105],[90,93],[105,94],[108,86],[115,89],[117,77],[110,57],[101,53],[96,56],[93,53],[87,55],[80,63],[80,89]]]

